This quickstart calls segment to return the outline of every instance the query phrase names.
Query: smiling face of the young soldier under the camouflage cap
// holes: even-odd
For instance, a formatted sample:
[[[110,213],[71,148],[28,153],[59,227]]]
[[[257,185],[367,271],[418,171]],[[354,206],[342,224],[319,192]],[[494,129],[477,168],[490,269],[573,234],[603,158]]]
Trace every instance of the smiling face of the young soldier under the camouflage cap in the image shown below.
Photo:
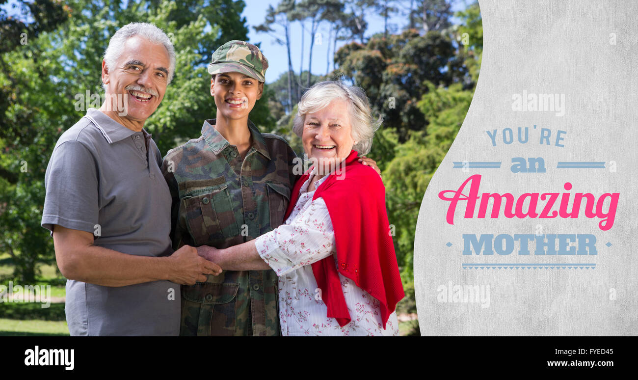
[[[228,119],[248,118],[262,94],[263,83],[239,72],[220,73],[211,79],[215,105]]]

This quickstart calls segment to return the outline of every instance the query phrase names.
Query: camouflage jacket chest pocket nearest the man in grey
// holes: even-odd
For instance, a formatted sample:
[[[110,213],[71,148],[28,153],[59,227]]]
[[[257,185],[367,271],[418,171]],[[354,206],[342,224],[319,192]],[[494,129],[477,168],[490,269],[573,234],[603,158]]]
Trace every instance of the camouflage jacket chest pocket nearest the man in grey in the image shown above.
[[[186,225],[195,245],[239,234],[226,185],[191,192],[182,199]]]

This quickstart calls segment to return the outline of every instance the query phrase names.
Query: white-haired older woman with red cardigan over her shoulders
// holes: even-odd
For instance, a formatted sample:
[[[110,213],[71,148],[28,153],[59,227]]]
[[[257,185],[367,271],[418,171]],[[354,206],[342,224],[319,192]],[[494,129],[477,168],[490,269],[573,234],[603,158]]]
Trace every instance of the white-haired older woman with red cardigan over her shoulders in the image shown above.
[[[293,188],[285,224],[225,249],[199,247],[224,270],[274,270],[282,335],[397,335],[403,287],[385,189],[359,162],[380,121],[363,91],[321,82],[293,130],[313,166]]]

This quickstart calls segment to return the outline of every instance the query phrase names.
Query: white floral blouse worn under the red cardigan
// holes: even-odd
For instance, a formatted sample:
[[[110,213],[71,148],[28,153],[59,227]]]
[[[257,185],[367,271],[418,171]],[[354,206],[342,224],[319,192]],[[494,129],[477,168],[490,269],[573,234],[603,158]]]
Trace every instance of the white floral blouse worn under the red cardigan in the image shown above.
[[[318,188],[328,176],[315,182]],[[256,239],[260,257],[279,277],[279,321],[283,336],[399,335],[396,312],[383,330],[379,301],[353,280],[339,273],[341,289],[352,321],[339,326],[327,317],[310,264],[332,255],[336,265],[334,231],[322,198],[313,201],[309,179],[301,186],[299,201],[286,224]]]

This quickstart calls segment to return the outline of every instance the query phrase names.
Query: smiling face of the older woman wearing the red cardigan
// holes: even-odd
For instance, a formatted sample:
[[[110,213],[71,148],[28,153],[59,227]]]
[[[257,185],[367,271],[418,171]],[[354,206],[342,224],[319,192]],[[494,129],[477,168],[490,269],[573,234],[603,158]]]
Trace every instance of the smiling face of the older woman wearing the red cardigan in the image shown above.
[[[345,160],[354,145],[348,103],[335,99],[327,107],[309,112],[304,119],[302,142],[306,155],[327,165]]]

